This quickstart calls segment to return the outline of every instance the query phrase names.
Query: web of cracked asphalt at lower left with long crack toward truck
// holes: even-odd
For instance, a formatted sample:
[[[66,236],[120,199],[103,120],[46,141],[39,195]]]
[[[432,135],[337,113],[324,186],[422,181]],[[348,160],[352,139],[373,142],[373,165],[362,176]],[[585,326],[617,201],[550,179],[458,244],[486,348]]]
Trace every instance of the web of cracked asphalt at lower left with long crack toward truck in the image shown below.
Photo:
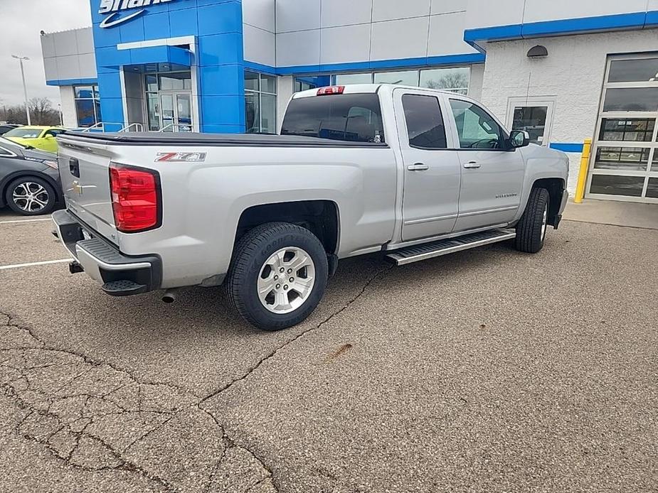
[[[278,492],[266,461],[236,444],[203,403],[344,313],[390,269],[378,270],[339,310],[203,398],[174,384],[137,379],[80,352],[49,347],[31,327],[0,311],[0,389],[27,411],[14,432],[70,467],[132,472],[166,492],[238,491],[238,486],[243,493]]]

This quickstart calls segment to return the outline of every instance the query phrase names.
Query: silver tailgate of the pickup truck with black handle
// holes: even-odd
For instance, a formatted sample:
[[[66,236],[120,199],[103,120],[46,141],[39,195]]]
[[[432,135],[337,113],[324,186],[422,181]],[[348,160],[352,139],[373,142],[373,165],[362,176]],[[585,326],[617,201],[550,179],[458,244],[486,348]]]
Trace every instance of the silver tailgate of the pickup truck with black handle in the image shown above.
[[[68,210],[95,232],[118,242],[110,193],[111,146],[58,137],[58,165]]]

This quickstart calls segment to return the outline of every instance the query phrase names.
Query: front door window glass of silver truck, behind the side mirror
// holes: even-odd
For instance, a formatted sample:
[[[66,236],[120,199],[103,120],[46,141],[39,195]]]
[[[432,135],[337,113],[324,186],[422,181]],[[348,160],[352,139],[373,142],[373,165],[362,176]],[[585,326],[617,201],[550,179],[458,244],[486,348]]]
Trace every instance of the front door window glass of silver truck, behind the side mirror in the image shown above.
[[[450,106],[460,137],[460,148],[504,148],[502,129],[484,109],[461,99],[450,99]]]

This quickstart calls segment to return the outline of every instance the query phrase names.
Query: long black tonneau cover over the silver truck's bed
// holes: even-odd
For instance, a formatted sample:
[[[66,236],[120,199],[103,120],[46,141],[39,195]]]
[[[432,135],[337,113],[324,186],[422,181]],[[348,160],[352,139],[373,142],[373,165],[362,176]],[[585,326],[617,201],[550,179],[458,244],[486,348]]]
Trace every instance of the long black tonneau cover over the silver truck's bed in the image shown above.
[[[271,134],[197,134],[194,132],[77,132],[60,136],[80,141],[102,141],[122,146],[237,146],[237,147],[388,147],[386,143],[350,142],[317,137]]]

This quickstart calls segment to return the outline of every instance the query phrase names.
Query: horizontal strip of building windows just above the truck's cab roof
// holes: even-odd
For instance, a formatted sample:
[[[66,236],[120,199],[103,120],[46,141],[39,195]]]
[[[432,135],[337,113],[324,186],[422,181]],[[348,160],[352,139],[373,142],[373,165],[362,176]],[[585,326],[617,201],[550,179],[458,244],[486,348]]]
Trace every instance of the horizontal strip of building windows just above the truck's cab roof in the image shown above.
[[[428,87],[443,91],[468,93],[470,67],[431,68],[428,70],[395,70],[392,72],[366,72],[334,75],[334,85],[348,84],[400,84]]]

